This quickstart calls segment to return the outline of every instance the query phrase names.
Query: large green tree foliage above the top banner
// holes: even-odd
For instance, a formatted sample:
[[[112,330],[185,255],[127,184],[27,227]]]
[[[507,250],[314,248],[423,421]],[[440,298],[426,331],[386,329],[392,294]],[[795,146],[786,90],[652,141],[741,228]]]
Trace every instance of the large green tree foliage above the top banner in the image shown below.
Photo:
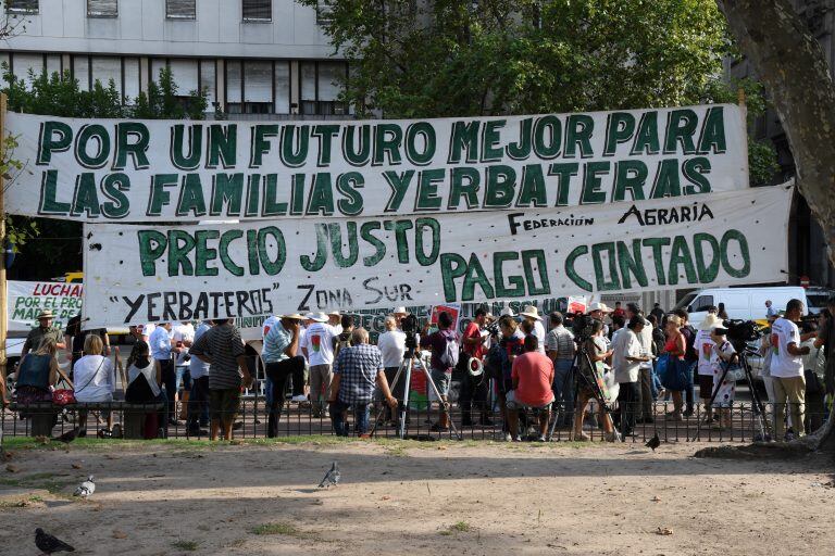
[[[386,117],[693,104],[730,51],[712,0],[329,4],[325,33],[353,70],[345,100]]]

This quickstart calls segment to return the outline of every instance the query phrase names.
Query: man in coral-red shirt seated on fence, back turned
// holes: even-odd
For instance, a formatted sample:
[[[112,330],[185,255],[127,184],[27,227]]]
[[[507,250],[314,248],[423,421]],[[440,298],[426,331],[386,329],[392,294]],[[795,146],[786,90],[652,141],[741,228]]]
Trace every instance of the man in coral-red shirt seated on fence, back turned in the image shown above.
[[[537,351],[539,340],[525,337],[525,353],[513,359],[511,379],[513,390],[508,392],[508,420],[513,442],[519,442],[519,410],[539,410],[539,442],[545,442],[553,403],[553,362]]]

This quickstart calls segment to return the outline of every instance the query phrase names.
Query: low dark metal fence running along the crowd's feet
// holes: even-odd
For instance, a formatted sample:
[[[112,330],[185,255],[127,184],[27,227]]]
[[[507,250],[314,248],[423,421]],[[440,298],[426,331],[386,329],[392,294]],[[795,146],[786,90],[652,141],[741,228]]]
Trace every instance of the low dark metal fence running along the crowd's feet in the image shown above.
[[[776,407],[774,404],[764,405],[765,433],[773,437],[778,425]],[[54,438],[78,427],[79,418],[85,416],[87,437],[110,438],[104,432],[110,431],[114,437],[125,438],[150,438],[163,433],[170,439],[208,439],[209,421],[203,405],[176,404],[175,410],[171,414],[175,419],[170,424],[165,422],[165,413],[161,410],[161,405],[144,407],[123,402],[64,407],[49,404],[37,406],[13,404],[0,414],[0,426],[7,437],[45,435]],[[191,426],[188,424],[189,412],[192,412],[195,421]],[[399,435],[399,429],[395,422],[397,413],[391,416],[385,412],[386,407],[382,403],[371,404],[370,430],[367,432],[374,437],[397,438]],[[634,434],[625,437],[624,442],[643,443],[656,434],[662,442],[751,442],[762,439],[763,421],[757,416],[750,402],[735,402],[733,404],[730,409],[731,421],[727,427],[721,427],[720,422],[715,420],[706,419],[708,415],[701,404],[694,407],[693,415],[683,417],[673,414],[672,402],[656,402],[651,406],[651,412],[649,419],[638,419],[634,427]],[[448,431],[433,430],[433,424],[438,420],[439,415],[436,403],[416,404],[410,407],[407,413],[404,435],[419,440],[456,438],[461,440],[506,440],[502,415],[497,410],[495,404],[474,406],[471,412],[466,413],[472,416],[473,424],[463,426],[465,412],[462,412],[461,406],[457,403],[450,407],[450,418],[454,429],[460,434],[457,435],[453,429]],[[153,418],[148,419],[148,416],[155,416],[155,420]],[[108,417],[111,419],[112,429],[109,428]],[[614,417],[618,421],[620,415],[616,409]],[[825,410],[812,412],[811,408],[808,408],[806,412],[807,422],[805,424],[807,430],[817,428],[825,421],[826,417]],[[538,438],[539,418],[540,416],[535,410],[521,413],[520,435],[523,439],[535,440]],[[352,412],[348,412],[347,419],[349,421],[349,434],[359,435],[362,431],[358,431]],[[549,431],[552,430],[552,434],[549,434],[548,440],[552,442],[573,440],[571,419],[572,412],[551,412],[548,427]],[[234,438],[262,439],[269,437],[267,406],[262,396],[245,396],[233,420]],[[275,420],[272,432],[276,437],[334,434],[327,409],[320,412],[309,402],[287,401],[283,404],[281,413],[276,414]],[[554,420],[556,425],[551,427]],[[786,419],[782,419],[782,421],[781,428],[783,430],[798,431],[798,427],[794,427],[792,422],[786,422]],[[589,412],[587,408],[584,416],[583,432],[593,441],[603,440],[605,433],[600,425],[597,412]],[[620,422],[615,422],[615,425],[622,429]]]

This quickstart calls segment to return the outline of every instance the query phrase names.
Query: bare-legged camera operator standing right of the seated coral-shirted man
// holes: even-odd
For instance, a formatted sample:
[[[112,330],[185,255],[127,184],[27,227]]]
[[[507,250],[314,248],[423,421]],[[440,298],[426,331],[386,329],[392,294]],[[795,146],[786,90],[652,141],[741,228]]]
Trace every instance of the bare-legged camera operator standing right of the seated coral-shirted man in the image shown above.
[[[611,351],[607,351],[603,341],[603,324],[600,320],[591,320],[591,336],[583,342],[586,354],[579,357],[579,372],[584,378],[579,379],[579,389],[577,390],[577,405],[574,414],[574,440],[591,440],[588,434],[583,432],[583,412],[586,404],[593,397],[597,399],[599,390],[602,396],[608,397],[606,381],[603,380],[603,361],[612,356]],[[590,366],[589,366],[590,364]],[[597,383],[598,388],[590,386]],[[600,420],[603,424],[607,442],[615,442],[619,434],[614,430],[612,419],[603,409],[603,402],[607,400],[597,400]]]

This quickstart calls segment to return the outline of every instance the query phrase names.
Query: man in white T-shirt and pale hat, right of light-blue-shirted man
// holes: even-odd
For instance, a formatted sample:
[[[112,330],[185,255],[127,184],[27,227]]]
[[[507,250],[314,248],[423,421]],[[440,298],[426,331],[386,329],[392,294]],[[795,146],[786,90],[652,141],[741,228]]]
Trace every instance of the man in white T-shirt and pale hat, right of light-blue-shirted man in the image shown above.
[[[313,417],[321,417],[334,379],[334,343],[337,333],[334,327],[327,324],[328,317],[324,313],[314,313],[310,317],[312,324],[308,326],[304,337],[300,338],[299,345],[310,364],[310,401],[313,404]]]

